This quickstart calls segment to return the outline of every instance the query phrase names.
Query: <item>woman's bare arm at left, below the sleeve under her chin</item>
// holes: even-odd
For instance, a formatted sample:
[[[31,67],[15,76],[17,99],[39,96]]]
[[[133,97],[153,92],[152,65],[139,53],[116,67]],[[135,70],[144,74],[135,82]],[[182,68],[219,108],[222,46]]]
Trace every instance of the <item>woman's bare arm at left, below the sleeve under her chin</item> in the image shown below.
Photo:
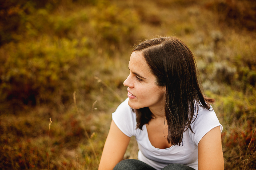
[[[126,136],[112,120],[102,151],[99,170],[112,170],[123,159],[130,137]]]

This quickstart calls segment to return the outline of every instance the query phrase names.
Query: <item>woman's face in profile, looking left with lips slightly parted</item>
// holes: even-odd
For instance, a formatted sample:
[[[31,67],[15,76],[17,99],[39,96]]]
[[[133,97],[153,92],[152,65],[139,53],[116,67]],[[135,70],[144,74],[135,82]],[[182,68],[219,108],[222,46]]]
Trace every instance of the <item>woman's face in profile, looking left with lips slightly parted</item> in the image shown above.
[[[165,87],[156,86],[155,76],[150,73],[141,52],[131,54],[128,68],[130,74],[123,85],[127,86],[129,106],[133,109],[149,107],[151,111],[162,107]]]

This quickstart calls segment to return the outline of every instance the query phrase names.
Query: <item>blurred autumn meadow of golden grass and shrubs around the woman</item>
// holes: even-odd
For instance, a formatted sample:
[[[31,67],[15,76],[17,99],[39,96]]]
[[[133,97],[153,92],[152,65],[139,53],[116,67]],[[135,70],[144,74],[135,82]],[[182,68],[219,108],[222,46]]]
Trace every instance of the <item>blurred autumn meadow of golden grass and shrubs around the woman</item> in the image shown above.
[[[254,0],[0,0],[0,169],[98,169],[133,46],[159,35],[194,53],[225,169],[255,169]]]

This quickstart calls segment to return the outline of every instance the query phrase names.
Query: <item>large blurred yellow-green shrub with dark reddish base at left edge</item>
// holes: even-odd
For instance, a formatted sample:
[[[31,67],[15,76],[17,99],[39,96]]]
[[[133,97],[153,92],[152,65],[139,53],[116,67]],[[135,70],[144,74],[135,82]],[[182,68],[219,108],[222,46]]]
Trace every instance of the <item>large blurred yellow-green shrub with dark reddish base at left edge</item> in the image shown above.
[[[1,99],[35,105],[52,101],[55,95],[62,97],[63,90],[72,88],[70,67],[88,54],[85,47],[81,51],[75,48],[77,44],[76,40],[48,36],[40,42],[6,44],[2,48],[6,58],[1,67]]]

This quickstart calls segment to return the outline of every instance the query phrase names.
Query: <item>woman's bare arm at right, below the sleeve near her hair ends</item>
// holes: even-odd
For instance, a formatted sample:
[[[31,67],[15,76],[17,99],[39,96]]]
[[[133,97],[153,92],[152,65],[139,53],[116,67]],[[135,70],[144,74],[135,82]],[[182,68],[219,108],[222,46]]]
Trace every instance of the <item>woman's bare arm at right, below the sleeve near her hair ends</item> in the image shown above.
[[[224,169],[219,126],[210,130],[198,143],[198,169]]]

